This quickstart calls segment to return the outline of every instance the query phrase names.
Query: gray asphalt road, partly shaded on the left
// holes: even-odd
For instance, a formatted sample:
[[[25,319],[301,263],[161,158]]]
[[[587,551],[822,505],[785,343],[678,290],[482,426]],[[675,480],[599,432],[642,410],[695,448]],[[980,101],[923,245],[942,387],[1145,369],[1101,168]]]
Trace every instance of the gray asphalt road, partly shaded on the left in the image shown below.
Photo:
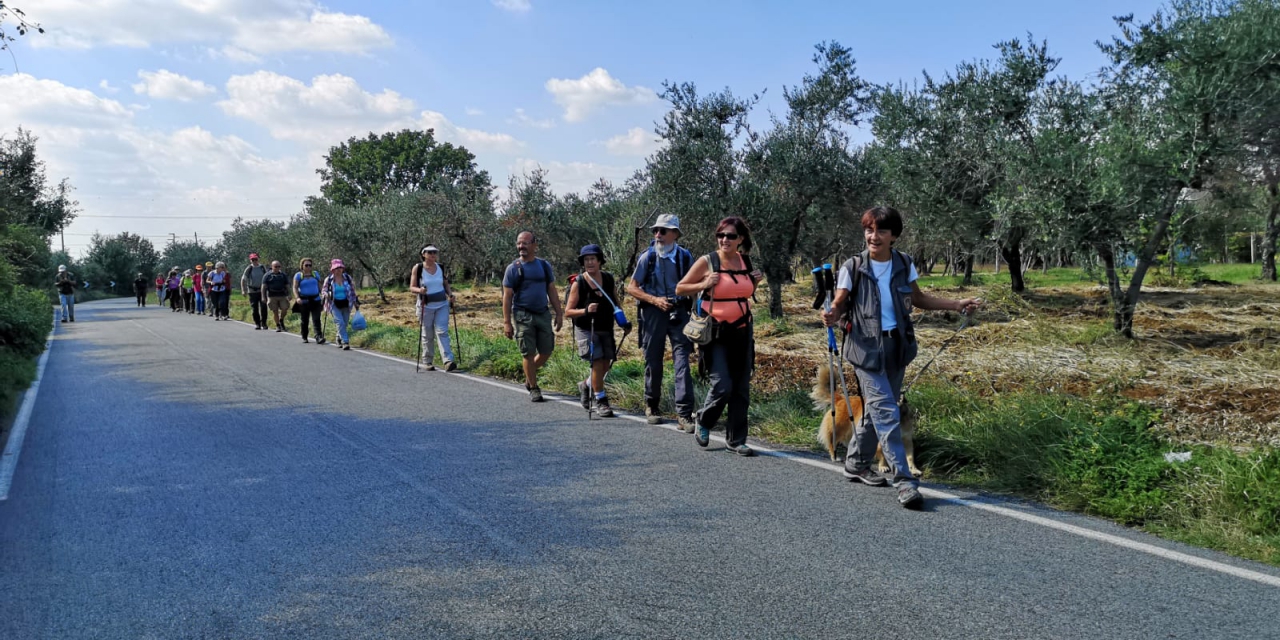
[[[3,639],[1280,637],[1280,589],[1220,571],[296,335],[77,311],[0,502]]]

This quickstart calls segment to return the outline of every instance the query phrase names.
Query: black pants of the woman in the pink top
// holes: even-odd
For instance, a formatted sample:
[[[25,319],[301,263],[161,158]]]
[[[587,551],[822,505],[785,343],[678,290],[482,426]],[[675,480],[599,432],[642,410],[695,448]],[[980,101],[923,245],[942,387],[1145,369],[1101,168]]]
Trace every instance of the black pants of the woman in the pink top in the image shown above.
[[[728,407],[724,440],[730,447],[746,444],[746,410],[751,403],[751,370],[755,366],[751,325],[737,330],[719,328],[716,339],[703,348],[707,349],[712,388],[707,392],[698,424],[708,429],[716,426]]]

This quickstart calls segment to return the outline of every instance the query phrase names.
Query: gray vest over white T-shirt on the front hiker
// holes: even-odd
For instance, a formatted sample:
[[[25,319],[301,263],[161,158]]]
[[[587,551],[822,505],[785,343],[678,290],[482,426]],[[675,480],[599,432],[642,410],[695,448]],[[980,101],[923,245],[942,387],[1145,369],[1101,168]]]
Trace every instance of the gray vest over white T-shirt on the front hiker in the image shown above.
[[[911,256],[893,250],[892,271],[890,275],[890,291],[893,292],[893,314],[897,316],[897,329],[902,339],[897,340],[900,349],[900,362],[905,367],[908,362],[915,360],[919,346],[915,343],[915,326],[911,325],[911,283],[908,276],[911,274]],[[858,271],[855,271],[855,264]],[[841,266],[849,271],[854,291],[849,300],[849,333],[845,334],[842,355],[845,360],[859,369],[879,371],[884,369],[884,337],[881,330],[879,311],[881,298],[876,274],[872,273],[870,256],[863,251],[861,256],[849,259]]]

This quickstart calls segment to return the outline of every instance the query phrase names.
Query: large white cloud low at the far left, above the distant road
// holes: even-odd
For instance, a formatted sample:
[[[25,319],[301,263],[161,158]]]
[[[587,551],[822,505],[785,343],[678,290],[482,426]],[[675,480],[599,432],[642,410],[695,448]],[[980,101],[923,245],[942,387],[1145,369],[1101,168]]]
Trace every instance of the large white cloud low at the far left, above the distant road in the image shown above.
[[[319,188],[317,165],[306,155],[266,157],[237,136],[215,136],[201,127],[150,128],[138,122],[146,111],[88,90],[13,74],[0,76],[0,95],[8,96],[0,100],[0,122],[36,134],[49,175],[68,177],[76,187],[86,218],[67,229],[73,253],[83,248],[77,239],[87,241],[95,230],[216,236],[237,215],[293,214]],[[214,193],[234,195],[234,201],[210,197]]]

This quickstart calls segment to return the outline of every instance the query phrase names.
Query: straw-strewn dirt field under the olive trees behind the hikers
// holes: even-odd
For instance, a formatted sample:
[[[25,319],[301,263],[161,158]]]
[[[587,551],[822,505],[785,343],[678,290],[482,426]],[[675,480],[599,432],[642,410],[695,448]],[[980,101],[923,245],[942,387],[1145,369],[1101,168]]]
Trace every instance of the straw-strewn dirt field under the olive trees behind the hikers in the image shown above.
[[[494,287],[458,292],[463,326],[500,335],[499,292]],[[1151,288],[1135,316],[1135,340],[1111,333],[1102,287],[1039,288],[1021,297],[1009,293],[1007,285],[934,292],[988,302],[977,325],[956,337],[925,379],[982,396],[1023,389],[1121,393],[1158,407],[1162,428],[1176,442],[1280,445],[1280,288],[1275,285]],[[389,296],[390,305],[366,305],[366,314],[412,326],[411,294]],[[814,367],[826,356],[810,301],[808,285],[787,287],[787,320],[758,320],[756,390],[813,384]],[[623,306],[634,312],[631,301]],[[918,314],[916,326],[920,357],[908,371],[909,380],[954,334],[959,316]],[[636,356],[634,340],[623,347],[623,358]]]

